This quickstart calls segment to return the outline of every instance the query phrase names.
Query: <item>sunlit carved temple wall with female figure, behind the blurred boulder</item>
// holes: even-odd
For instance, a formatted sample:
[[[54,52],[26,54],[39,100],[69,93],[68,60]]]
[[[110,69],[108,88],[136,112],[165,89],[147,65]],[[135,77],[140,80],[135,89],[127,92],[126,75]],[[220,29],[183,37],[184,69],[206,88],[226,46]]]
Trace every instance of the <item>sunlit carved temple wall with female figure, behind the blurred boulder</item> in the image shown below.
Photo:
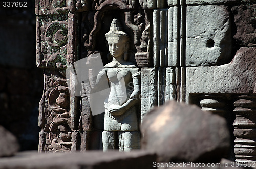
[[[247,114],[255,107],[254,6],[236,0],[38,1],[36,62],[45,69],[39,151],[139,148],[143,117],[154,106],[177,100],[225,117],[234,131],[231,156],[255,160],[254,126],[244,124],[251,123]],[[112,24],[113,19],[120,23]],[[110,34],[113,25],[129,40]],[[124,58],[117,64],[114,41]],[[94,54],[100,55],[102,73],[112,86],[113,79],[141,86],[139,101],[123,106],[122,115],[113,110],[122,103],[106,102],[105,113],[93,116],[93,78],[74,86],[76,74],[65,77],[67,67]],[[116,97],[108,96],[110,102]],[[131,125],[125,128],[127,121]]]

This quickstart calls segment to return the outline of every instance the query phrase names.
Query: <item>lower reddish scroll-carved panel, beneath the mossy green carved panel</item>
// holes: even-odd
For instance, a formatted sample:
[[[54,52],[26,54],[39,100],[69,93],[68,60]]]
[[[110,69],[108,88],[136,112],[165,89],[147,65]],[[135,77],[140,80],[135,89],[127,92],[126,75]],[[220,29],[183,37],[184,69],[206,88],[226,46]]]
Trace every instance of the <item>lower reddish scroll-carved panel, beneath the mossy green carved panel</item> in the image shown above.
[[[44,71],[44,95],[39,103],[39,152],[71,150],[70,93],[65,70]]]

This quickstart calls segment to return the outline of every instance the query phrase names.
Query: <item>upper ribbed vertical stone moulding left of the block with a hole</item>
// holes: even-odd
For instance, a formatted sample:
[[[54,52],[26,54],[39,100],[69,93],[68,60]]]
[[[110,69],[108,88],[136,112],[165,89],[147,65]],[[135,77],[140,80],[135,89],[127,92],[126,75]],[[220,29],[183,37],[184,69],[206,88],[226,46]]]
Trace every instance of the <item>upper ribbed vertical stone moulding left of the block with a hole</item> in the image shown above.
[[[153,11],[153,55],[155,67],[177,65],[178,7]]]

